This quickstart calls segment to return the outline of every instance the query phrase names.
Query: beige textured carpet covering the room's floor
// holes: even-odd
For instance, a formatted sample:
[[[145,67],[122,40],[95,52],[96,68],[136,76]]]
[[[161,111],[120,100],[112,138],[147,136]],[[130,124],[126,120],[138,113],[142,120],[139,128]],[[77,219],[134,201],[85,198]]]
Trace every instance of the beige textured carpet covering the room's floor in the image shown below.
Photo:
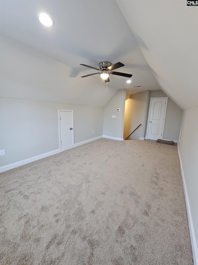
[[[0,180],[1,264],[193,264],[176,146],[99,139]]]

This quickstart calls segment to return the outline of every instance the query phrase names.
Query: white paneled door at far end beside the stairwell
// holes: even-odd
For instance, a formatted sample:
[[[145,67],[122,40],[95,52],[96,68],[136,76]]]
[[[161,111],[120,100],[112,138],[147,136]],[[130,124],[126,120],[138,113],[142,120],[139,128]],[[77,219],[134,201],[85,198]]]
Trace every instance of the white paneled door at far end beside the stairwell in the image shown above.
[[[150,115],[149,115],[149,130],[148,139],[157,140],[163,138],[163,130],[166,116],[167,98],[152,98]]]

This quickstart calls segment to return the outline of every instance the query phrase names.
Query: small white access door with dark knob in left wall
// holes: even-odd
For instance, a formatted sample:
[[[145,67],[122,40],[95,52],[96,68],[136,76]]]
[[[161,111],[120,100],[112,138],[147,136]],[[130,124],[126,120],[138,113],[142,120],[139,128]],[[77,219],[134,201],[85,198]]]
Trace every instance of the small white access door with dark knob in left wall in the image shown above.
[[[60,149],[74,145],[73,110],[59,110]]]

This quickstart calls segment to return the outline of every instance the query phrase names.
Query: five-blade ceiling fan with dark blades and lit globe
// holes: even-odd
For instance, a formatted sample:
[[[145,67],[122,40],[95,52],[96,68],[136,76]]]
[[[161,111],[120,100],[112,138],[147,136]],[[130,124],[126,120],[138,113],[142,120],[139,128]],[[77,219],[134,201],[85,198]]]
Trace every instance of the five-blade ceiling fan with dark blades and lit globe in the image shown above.
[[[89,67],[89,68],[93,68],[93,69],[96,69],[100,72],[98,73],[95,73],[95,74],[91,74],[91,75],[97,75],[97,74],[100,74],[100,77],[105,80],[105,82],[109,82],[109,76],[110,74],[112,75],[120,75],[120,76],[125,76],[125,77],[128,77],[130,78],[132,75],[130,74],[125,74],[125,73],[120,73],[120,72],[115,72],[113,71],[114,69],[117,69],[119,67],[122,67],[124,66],[123,63],[121,62],[117,62],[115,64],[112,64],[111,62],[100,62],[99,63],[99,67],[100,69],[98,68],[95,68],[95,67],[92,67],[92,66],[88,66],[86,64],[80,64],[80,65],[83,65],[83,66],[86,66],[86,67]],[[86,77],[86,76],[89,76],[89,75],[84,75],[84,76],[81,76],[81,77]]]

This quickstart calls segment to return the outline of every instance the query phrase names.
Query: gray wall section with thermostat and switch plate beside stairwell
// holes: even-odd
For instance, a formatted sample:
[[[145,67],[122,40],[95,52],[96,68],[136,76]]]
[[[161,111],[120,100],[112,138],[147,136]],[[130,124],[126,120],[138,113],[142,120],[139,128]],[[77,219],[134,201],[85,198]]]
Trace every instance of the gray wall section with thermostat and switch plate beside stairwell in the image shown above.
[[[105,105],[103,135],[123,138],[125,98],[126,89],[119,89]],[[112,115],[116,115],[116,118],[112,118]]]

